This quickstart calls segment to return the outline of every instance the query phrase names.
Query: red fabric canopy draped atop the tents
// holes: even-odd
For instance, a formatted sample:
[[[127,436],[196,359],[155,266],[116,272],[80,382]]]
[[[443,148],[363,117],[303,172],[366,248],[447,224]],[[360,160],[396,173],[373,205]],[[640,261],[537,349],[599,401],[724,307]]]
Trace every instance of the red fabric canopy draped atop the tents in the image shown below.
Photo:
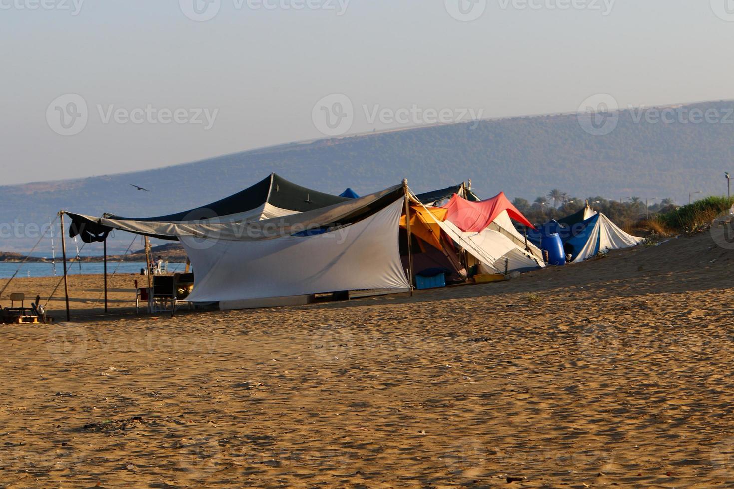
[[[523,216],[523,213],[517,210],[512,202],[509,202],[504,192],[480,202],[470,202],[454,194],[444,207],[448,209],[448,221],[456,224],[459,229],[465,232],[483,231],[503,210],[506,210],[509,216],[520,224],[535,229],[530,221]]]

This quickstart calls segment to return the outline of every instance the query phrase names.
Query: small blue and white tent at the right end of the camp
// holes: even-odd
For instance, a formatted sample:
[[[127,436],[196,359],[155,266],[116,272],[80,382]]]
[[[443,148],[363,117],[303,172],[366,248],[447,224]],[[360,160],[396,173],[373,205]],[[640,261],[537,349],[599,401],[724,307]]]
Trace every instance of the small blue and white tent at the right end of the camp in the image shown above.
[[[540,246],[543,236],[552,234],[559,235],[567,261],[572,263],[589,260],[600,252],[631,248],[644,240],[620,229],[603,213],[593,210],[588,201],[578,212],[530,230],[528,239]]]

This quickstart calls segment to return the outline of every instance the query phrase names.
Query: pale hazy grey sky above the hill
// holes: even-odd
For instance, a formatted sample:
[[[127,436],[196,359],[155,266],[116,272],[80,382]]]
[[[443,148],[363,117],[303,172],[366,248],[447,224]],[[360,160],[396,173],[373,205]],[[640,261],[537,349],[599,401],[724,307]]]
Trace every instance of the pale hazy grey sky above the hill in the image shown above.
[[[324,137],[331,94],[338,133],[734,98],[731,0],[80,2],[0,0],[0,183]]]

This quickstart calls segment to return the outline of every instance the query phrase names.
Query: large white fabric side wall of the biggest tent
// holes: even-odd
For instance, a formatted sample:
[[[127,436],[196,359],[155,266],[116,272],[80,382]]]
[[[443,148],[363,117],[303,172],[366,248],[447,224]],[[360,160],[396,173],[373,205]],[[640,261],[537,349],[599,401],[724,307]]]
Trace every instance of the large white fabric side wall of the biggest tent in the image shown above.
[[[188,300],[408,290],[398,242],[403,206],[399,199],[355,224],[308,237],[241,241],[179,236],[197,277]]]

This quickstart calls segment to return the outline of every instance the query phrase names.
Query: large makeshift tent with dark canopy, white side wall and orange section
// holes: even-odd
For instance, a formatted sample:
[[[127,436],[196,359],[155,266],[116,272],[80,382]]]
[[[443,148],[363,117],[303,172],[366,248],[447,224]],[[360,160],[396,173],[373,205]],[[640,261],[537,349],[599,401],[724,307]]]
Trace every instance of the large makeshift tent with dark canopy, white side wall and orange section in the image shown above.
[[[233,196],[167,216],[66,214],[72,235],[87,242],[104,240],[111,229],[181,241],[195,271],[186,301],[247,309],[307,304],[313,295],[344,291],[406,292],[416,275],[430,269],[446,273],[449,282],[465,282],[462,253],[483,273],[517,269],[515,261],[522,260],[515,255],[525,258],[522,269],[542,266],[524,238],[501,222],[503,211],[522,215],[499,197],[504,194],[484,202],[451,198],[482,212],[502,207],[479,232],[462,229],[456,216],[459,224],[452,222],[451,206],[425,206],[407,183],[344,198],[275,174]]]

